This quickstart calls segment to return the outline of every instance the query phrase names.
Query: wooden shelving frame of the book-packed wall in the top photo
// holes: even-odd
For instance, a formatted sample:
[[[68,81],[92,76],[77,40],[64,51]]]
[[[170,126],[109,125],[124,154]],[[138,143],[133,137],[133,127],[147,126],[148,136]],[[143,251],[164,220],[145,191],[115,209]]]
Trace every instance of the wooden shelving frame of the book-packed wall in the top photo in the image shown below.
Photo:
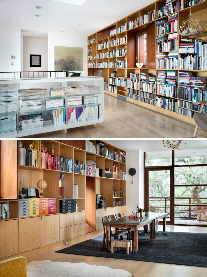
[[[146,72],[149,74],[154,74],[156,75],[156,79],[157,79],[157,75],[158,75],[158,71],[159,69],[156,68],[156,22],[161,20],[161,19],[168,19],[168,15],[167,16],[163,16],[158,18],[156,15],[156,19],[152,20],[146,24],[142,24],[139,25],[137,27],[134,27],[132,29],[129,29],[127,31],[121,32],[119,34],[115,34],[110,36],[110,29],[112,27],[118,28],[120,25],[127,23],[127,21],[131,21],[131,20],[135,20],[137,17],[140,17],[142,15],[147,14],[148,12],[151,12],[153,10],[155,10],[155,14],[156,14],[156,10],[160,9],[162,6],[165,6],[166,1],[165,0],[157,0],[155,2],[153,2],[152,4],[143,7],[142,9],[133,12],[132,14],[118,20],[117,22],[114,22],[113,24],[111,24],[110,26],[97,31],[96,33],[89,35],[88,40],[94,37],[97,37],[97,42],[94,42],[90,45],[88,45],[88,47],[92,47],[92,60],[88,60],[88,64],[91,62],[105,62],[108,61],[108,63],[110,61],[117,61],[117,60],[127,60],[127,68],[88,68],[88,76],[93,76],[94,75],[94,71],[95,70],[103,70],[103,78],[104,78],[104,82],[105,83],[109,83],[108,77],[111,77],[111,73],[113,73],[113,71],[117,71],[117,78],[118,78],[118,73],[122,73],[122,77],[125,78],[129,78],[129,74],[130,72],[134,72],[134,73],[138,73],[140,76],[141,72]],[[176,13],[176,12],[175,12]],[[175,14],[174,13],[174,14]],[[183,22],[183,20],[189,19],[190,17],[190,7],[182,9],[182,10],[178,10],[178,41],[180,43],[180,39],[181,36],[179,35],[179,29],[180,29],[180,25]],[[199,35],[193,36],[194,38],[203,38],[205,41],[207,41],[207,31],[206,31],[206,13],[207,13],[207,1],[204,2],[200,2],[198,4],[195,4],[193,6],[191,6],[191,18],[195,18],[195,19],[199,19],[202,24],[203,24],[203,32]],[[136,37],[137,34],[141,34],[144,31],[147,31],[147,55],[148,55],[148,63],[147,66],[145,66],[145,68],[137,68],[136,66],[136,57],[137,57],[137,41],[136,41]],[[169,34],[169,33],[168,33]],[[167,34],[167,35],[168,35]],[[111,39],[118,39],[120,37],[125,36],[127,38],[127,43],[125,44],[121,44],[121,45],[116,45],[114,47],[108,47],[108,48],[104,48],[102,50],[96,50],[97,48],[97,44],[99,43],[103,43],[106,41],[109,41]],[[192,38],[192,37],[190,37]],[[127,55],[124,57],[113,57],[113,58],[102,58],[102,59],[94,59],[94,56],[97,55],[97,53],[104,53],[107,51],[111,51],[111,50],[117,50],[118,48],[127,48]],[[169,52],[169,51],[168,51]],[[179,45],[178,45],[178,52],[179,52]],[[178,54],[179,55],[179,54]],[[179,58],[178,58],[178,63],[179,63]],[[179,67],[178,67],[179,68]],[[170,70],[170,69],[169,69]],[[167,71],[167,70],[166,70]],[[199,76],[199,77],[204,77],[207,74],[207,70],[179,70],[176,69],[175,70],[177,72],[177,76],[179,76],[179,72],[180,71],[193,71],[193,75],[194,76]],[[178,77],[177,77],[178,78]],[[111,84],[109,84],[110,86]],[[139,106],[142,107],[146,107],[148,109],[151,109],[153,111],[156,112],[160,112],[164,115],[167,116],[171,116],[173,118],[176,119],[180,119],[182,121],[191,123],[195,125],[195,121],[193,120],[193,118],[189,117],[189,116],[185,116],[182,114],[179,114],[178,111],[174,112],[174,111],[170,111],[164,108],[160,108],[156,106],[156,96],[160,96],[160,94],[157,94],[155,91],[155,105],[152,104],[148,104],[145,102],[140,101],[140,98],[138,96],[139,100],[136,99],[132,99],[127,97],[127,88],[126,87],[122,87],[122,86],[118,86],[118,85],[112,85],[113,87],[116,87],[117,91],[116,93],[114,92],[110,92],[107,90],[104,90],[104,93],[109,94],[111,96],[117,97],[119,99],[122,99],[124,101],[128,101],[131,102],[133,104],[137,104]],[[156,88],[156,84],[155,84],[155,88]],[[138,89],[138,93],[139,93],[139,89]],[[177,91],[178,92],[178,91]],[[178,95],[178,93],[177,93]],[[173,98],[170,96],[166,96],[168,99],[175,99],[175,100],[179,100],[178,97]],[[142,99],[149,99],[145,96],[142,96]],[[184,100],[184,99],[180,99],[180,100]],[[186,101],[186,100],[184,100]],[[191,101],[187,101],[187,102],[191,102]],[[179,105],[178,105],[179,107]],[[177,109],[178,110],[178,109]],[[188,109],[187,109],[188,110]]]

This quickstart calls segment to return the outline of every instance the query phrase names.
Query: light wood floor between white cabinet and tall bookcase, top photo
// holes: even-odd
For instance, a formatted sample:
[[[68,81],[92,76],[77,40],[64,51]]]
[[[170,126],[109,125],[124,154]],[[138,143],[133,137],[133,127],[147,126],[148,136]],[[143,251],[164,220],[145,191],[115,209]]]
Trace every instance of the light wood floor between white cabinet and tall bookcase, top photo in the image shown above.
[[[104,122],[30,137],[193,137],[194,127],[104,94]],[[197,138],[207,137],[198,130]]]

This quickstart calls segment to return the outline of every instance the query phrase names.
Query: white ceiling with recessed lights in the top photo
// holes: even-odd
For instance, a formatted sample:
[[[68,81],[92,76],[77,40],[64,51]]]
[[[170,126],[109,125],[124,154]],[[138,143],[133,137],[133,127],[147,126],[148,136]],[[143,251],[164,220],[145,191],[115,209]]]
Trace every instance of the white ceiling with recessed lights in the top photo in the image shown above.
[[[22,30],[64,32],[88,36],[150,4],[153,0],[1,0],[0,24]],[[43,9],[36,9],[42,6]],[[36,17],[40,14],[42,17]],[[78,25],[83,25],[78,26]]]

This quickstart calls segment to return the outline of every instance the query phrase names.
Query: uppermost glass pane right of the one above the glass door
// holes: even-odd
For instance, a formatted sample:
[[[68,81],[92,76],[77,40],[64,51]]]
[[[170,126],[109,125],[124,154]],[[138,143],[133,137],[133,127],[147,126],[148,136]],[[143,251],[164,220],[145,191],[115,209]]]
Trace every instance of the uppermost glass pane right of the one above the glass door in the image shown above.
[[[175,165],[201,165],[207,164],[206,149],[181,149],[175,151]]]

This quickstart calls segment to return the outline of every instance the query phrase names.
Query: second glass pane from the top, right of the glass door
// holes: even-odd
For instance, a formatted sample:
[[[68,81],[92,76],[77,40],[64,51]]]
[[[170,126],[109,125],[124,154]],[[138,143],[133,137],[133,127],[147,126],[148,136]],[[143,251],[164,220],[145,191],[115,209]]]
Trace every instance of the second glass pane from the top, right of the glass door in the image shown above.
[[[207,166],[185,166],[174,169],[175,185],[206,185]]]

